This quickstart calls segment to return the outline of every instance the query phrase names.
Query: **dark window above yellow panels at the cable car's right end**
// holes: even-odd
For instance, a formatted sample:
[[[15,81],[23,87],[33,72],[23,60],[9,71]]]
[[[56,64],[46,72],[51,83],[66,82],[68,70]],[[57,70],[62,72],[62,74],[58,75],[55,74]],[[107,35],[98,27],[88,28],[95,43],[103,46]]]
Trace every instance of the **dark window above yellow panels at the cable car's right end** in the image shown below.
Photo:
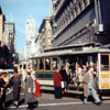
[[[109,55],[101,55],[101,70],[109,70]]]

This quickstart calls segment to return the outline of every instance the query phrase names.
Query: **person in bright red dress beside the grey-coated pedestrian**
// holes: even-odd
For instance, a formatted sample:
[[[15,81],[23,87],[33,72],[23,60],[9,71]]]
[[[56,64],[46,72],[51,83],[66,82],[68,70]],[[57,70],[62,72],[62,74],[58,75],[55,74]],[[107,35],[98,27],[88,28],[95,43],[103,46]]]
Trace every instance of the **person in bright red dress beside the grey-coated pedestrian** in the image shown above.
[[[40,88],[43,87],[42,85],[40,85],[38,82],[38,78],[37,76],[35,75],[35,94],[34,94],[34,97],[41,97],[41,91],[40,91]]]

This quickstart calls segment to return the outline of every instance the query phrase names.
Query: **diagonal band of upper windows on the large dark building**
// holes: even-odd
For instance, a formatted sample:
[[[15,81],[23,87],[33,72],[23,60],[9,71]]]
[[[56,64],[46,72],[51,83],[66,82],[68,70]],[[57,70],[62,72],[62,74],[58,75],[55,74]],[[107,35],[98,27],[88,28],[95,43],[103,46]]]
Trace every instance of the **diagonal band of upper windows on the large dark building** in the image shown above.
[[[69,2],[69,6],[67,6],[56,21],[57,26],[54,28],[54,34],[61,33],[89,4],[90,0],[78,0],[77,2],[73,0]]]

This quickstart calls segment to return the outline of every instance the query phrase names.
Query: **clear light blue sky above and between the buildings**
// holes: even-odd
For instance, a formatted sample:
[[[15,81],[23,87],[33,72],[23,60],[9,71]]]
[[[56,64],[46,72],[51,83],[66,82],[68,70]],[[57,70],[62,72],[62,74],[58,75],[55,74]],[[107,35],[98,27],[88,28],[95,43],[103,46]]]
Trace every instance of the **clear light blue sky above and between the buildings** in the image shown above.
[[[0,6],[7,21],[11,21],[12,16],[18,52],[23,53],[26,19],[32,16],[35,20],[37,33],[43,19],[51,15],[51,0],[0,0]]]

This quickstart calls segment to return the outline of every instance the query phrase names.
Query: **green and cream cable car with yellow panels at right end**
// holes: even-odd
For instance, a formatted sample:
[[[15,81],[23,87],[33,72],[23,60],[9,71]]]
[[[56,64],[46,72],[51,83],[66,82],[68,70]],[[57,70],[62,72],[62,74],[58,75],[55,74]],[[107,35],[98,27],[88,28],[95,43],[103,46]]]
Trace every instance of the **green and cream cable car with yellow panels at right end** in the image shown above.
[[[100,92],[110,90],[110,48],[103,46],[96,46],[94,44],[88,45],[70,45],[65,47],[56,47],[45,50],[38,56],[32,57],[32,67],[36,72],[40,82],[46,86],[53,86],[53,73],[55,68],[59,68],[62,65],[68,66],[67,74],[70,74],[70,69],[76,68],[78,76],[78,65],[88,65],[90,62],[96,64],[97,68],[97,85]],[[76,87],[70,84],[69,75],[69,88]],[[81,87],[80,87],[81,88]],[[79,82],[77,80],[77,87],[79,89]]]

